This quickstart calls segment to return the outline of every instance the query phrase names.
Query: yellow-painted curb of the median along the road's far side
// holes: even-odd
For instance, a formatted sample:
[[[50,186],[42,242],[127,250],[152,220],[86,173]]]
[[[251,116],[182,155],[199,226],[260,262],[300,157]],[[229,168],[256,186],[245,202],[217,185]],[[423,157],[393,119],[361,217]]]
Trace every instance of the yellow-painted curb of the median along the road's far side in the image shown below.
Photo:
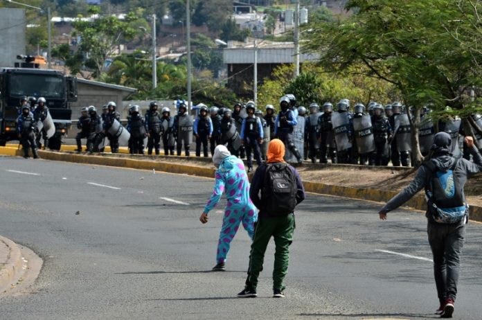
[[[21,150],[12,150],[12,148],[0,147],[0,154],[5,155],[17,155],[21,156]],[[96,156],[87,154],[71,154],[65,152],[51,152],[51,151],[39,151],[42,159],[54,160],[54,161],[66,161],[75,163],[96,164],[100,166],[113,166],[120,168],[134,168],[142,170],[158,170],[163,172],[195,175],[198,177],[214,177],[214,168],[204,168],[190,166],[186,164],[152,161],[152,160],[137,160],[125,157],[107,157]],[[321,182],[303,181],[305,190],[310,193],[319,193],[322,195],[333,195],[337,197],[348,197],[352,199],[368,200],[373,202],[387,202],[389,199],[398,194],[395,191],[368,189],[368,188],[353,188],[347,186],[334,186],[330,184],[323,184]],[[416,210],[425,211],[427,204],[425,197],[422,195],[416,195],[406,206],[414,208]],[[471,206],[470,207],[470,219],[482,222],[482,207]]]

